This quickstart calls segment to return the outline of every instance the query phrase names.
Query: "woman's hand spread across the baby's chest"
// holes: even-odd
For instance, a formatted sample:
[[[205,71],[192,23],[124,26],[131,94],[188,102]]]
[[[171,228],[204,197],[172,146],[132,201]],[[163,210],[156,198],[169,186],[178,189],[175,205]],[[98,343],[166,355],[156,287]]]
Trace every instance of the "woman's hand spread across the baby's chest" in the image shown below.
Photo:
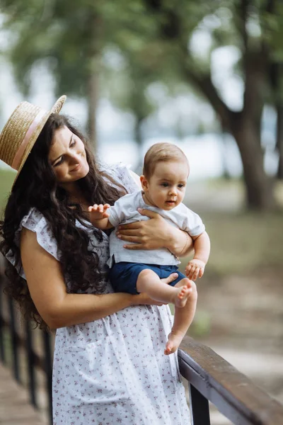
[[[151,220],[144,220],[120,225],[117,237],[125,242],[126,249],[159,249],[167,248],[175,255],[186,255],[192,249],[191,237],[177,227],[171,226],[157,212],[142,209],[141,215],[146,215]]]

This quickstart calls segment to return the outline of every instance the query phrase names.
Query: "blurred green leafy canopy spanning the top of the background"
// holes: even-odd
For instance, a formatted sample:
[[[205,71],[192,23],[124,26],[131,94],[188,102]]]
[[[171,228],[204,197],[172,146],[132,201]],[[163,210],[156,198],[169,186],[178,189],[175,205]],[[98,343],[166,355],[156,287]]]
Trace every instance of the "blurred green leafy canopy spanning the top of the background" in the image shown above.
[[[246,9],[238,0],[183,0],[178,6],[167,0],[6,0],[2,8],[6,28],[13,34],[11,61],[25,93],[31,70],[44,60],[56,77],[57,94],[87,96],[89,74],[103,76],[105,64],[100,58],[105,50],[115,48],[127,62],[129,84],[123,83],[125,98],[114,94],[114,99],[133,110],[144,103],[144,111],[137,114],[146,116],[151,112],[148,101],[142,99],[146,85],[187,82],[186,66],[204,76],[210,74],[211,54],[217,47],[234,45],[244,55],[246,42],[250,54],[266,42],[270,57],[282,60],[283,6],[280,1],[274,3],[272,11],[260,0]],[[192,50],[190,41],[196,31],[205,32],[211,40],[206,52]],[[241,58],[239,66],[243,66]],[[113,74],[108,69],[108,77],[113,79]]]

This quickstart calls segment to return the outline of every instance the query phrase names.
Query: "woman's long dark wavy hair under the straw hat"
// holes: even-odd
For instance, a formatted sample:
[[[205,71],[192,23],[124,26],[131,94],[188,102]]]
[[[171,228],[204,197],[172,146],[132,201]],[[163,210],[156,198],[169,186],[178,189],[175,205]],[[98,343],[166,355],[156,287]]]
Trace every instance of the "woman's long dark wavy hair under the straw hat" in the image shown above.
[[[125,195],[125,188],[120,186],[105,171],[100,171],[91,147],[83,135],[64,115],[51,114],[42,132],[35,142],[18,179],[13,186],[11,196],[6,205],[4,221],[0,222],[0,251],[4,256],[11,250],[16,259],[15,266],[8,263],[6,276],[8,284],[5,292],[11,295],[21,307],[25,318],[34,320],[36,326],[47,327],[30,297],[26,280],[22,278],[17,268],[21,267],[21,252],[15,242],[15,235],[21,220],[35,207],[44,215],[54,238],[57,241],[59,260],[62,273],[66,278],[69,293],[103,293],[105,290],[105,272],[100,266],[98,254],[89,249],[89,236],[86,228],[76,226],[76,220],[82,222],[83,211],[80,205],[70,208],[69,193],[60,187],[54,171],[48,160],[50,147],[54,141],[54,132],[67,126],[77,135],[86,149],[86,159],[89,172],[77,183],[83,197],[89,205],[93,203],[110,203]],[[86,221],[83,221],[86,225]],[[100,230],[91,225],[91,231],[98,242],[103,240]]]

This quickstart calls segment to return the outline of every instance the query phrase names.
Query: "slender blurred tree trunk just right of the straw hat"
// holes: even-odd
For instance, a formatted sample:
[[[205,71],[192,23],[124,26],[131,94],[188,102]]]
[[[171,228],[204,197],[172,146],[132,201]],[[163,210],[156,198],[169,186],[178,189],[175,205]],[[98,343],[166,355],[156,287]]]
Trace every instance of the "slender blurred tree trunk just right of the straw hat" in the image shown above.
[[[96,111],[98,106],[98,74],[93,71],[88,79],[88,135],[94,152],[97,151]]]

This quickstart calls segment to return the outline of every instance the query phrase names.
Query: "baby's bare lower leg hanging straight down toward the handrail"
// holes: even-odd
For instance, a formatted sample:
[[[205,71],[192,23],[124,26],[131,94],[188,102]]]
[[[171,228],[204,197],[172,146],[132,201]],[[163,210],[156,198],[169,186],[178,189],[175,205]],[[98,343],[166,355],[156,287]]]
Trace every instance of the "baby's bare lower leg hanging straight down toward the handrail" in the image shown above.
[[[174,323],[171,333],[168,335],[164,354],[174,353],[174,351],[178,349],[195,316],[195,309],[197,307],[197,287],[192,280],[190,280],[190,285],[191,293],[187,298],[185,307],[175,307]]]

